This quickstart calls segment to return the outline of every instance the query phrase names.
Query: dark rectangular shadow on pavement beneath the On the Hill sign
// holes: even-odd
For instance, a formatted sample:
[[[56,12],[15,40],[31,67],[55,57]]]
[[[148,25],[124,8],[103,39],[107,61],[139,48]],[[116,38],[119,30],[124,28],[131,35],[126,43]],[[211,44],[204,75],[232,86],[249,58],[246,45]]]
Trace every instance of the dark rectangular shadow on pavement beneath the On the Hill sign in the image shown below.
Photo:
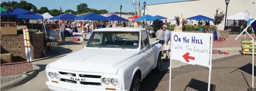
[[[208,83],[205,83],[203,81],[200,80],[196,80],[196,79],[191,79],[190,82],[188,83],[188,85],[186,86],[193,88],[197,91],[207,91],[208,90]],[[216,85],[210,85],[210,91],[215,91],[215,87]],[[184,89],[184,91],[186,91],[186,88]]]

